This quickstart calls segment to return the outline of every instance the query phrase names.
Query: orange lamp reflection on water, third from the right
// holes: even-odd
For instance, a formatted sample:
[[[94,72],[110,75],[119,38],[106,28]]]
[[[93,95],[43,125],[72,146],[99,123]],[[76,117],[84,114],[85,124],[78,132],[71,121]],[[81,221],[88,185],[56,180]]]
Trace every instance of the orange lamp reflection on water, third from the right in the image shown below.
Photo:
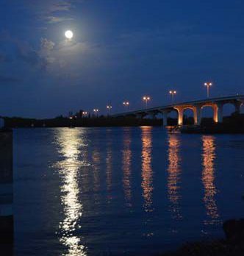
[[[146,212],[153,211],[153,174],[151,167],[152,151],[152,127],[141,127],[142,130],[142,188],[143,188],[143,208]]]

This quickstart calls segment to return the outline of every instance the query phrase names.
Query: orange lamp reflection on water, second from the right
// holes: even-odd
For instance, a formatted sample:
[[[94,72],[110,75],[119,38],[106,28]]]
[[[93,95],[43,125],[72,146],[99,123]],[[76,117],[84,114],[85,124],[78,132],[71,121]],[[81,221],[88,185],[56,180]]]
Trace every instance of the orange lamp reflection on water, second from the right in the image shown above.
[[[168,135],[168,199],[172,218],[181,219],[181,142],[179,135]]]

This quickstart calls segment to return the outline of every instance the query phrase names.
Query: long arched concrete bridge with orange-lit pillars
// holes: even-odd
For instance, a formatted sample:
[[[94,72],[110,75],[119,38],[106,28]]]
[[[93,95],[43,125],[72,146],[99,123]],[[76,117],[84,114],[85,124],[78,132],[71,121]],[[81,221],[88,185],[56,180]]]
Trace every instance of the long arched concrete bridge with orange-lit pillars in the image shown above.
[[[183,113],[184,110],[190,109],[194,113],[194,124],[201,124],[201,110],[204,107],[212,107],[213,110],[213,119],[215,123],[221,123],[223,121],[223,105],[224,104],[233,104],[235,111],[240,113],[240,107],[244,104],[244,95],[235,95],[235,96],[225,96],[213,99],[203,99],[196,100],[193,102],[182,102],[177,104],[170,104],[160,107],[151,107],[143,110],[130,111],[126,113],[118,113],[112,115],[112,117],[125,117],[125,116],[136,116],[137,118],[143,118],[146,115],[151,115],[155,118],[155,115],[162,113],[163,125],[168,125],[168,114],[171,111],[176,111],[178,113],[178,125],[183,125]]]

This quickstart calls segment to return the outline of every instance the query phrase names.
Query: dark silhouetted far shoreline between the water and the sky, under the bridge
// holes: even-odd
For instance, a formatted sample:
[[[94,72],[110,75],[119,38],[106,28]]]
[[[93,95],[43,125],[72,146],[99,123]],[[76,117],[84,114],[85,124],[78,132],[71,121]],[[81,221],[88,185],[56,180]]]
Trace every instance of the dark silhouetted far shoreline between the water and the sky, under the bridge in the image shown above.
[[[55,128],[55,127],[162,127],[163,121],[160,118],[135,118],[123,117],[112,118],[110,116],[68,118],[57,117],[49,119],[4,117],[6,128]],[[244,115],[231,115],[223,118],[223,123],[215,124],[212,118],[203,118],[201,126],[194,126],[193,118],[184,118],[184,127],[177,129],[177,119],[168,118],[169,126],[178,132],[188,134],[244,134]]]

